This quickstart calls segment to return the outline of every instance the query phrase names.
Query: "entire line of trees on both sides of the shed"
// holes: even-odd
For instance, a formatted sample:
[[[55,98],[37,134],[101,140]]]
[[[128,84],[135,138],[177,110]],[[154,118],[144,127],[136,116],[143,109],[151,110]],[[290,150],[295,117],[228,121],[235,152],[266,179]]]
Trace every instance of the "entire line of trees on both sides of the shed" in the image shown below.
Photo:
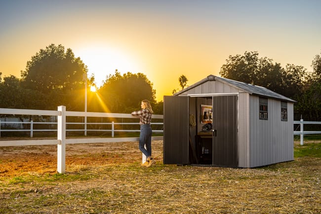
[[[225,78],[266,87],[289,97],[294,104],[295,119],[321,120],[321,55],[312,60],[312,71],[302,66],[280,63],[258,52],[229,56],[221,67]],[[140,107],[141,100],[150,100],[156,114],[162,114],[163,102],[156,101],[153,83],[143,73],[114,74],[106,76],[102,87],[90,92],[94,76],[85,77],[88,71],[70,48],[50,44],[40,49],[27,62],[21,78],[14,75],[2,77],[0,72],[0,107],[56,110],[84,110],[85,80],[87,80],[87,111],[130,113]],[[187,77],[178,79],[181,89],[187,87]],[[174,89],[176,93],[179,89]]]

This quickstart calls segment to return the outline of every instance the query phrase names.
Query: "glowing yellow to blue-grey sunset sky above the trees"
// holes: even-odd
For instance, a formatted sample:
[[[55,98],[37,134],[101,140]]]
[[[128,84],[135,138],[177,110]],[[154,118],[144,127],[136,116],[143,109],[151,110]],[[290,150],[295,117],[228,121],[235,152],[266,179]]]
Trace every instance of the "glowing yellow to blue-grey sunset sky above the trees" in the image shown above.
[[[258,51],[312,71],[321,53],[321,0],[0,0],[0,72],[20,71],[40,49],[71,48],[94,73],[142,72],[157,100],[219,75],[230,55]]]

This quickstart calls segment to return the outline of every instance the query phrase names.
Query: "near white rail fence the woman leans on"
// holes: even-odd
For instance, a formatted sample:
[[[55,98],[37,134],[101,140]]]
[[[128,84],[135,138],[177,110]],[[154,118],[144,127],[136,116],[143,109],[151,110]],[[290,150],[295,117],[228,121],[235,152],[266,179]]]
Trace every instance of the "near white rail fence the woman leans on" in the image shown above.
[[[0,146],[18,146],[18,145],[53,145],[57,144],[57,172],[65,173],[66,165],[66,144],[71,143],[111,143],[111,142],[131,142],[139,141],[139,137],[132,138],[83,138],[83,139],[66,139],[66,116],[77,117],[112,117],[112,118],[137,118],[131,114],[122,113],[100,113],[100,112],[81,112],[66,111],[66,107],[59,106],[57,111],[54,110],[31,110],[31,109],[14,109],[0,108],[0,114],[16,115],[49,115],[57,116],[57,140],[19,140],[19,141],[0,141]],[[153,115],[153,118],[162,119],[162,115]],[[135,123],[133,123],[135,124]],[[155,123],[154,123],[155,124]],[[156,123],[161,124],[161,123]],[[15,130],[17,131],[17,130]],[[26,131],[26,130],[23,130]],[[30,130],[28,130],[30,131]],[[55,131],[55,130],[50,130]],[[121,131],[140,131],[140,130],[121,130]],[[154,130],[153,130],[154,131]],[[162,132],[161,130],[158,130]],[[162,140],[163,137],[152,137],[152,140]],[[142,161],[146,157],[142,155]]]

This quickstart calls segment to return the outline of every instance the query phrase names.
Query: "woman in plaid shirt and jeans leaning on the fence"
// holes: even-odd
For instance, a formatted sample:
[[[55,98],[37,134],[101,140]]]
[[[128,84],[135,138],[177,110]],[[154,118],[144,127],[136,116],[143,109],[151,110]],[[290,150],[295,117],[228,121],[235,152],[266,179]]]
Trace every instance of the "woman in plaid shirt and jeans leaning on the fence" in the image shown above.
[[[146,156],[146,161],[142,166],[151,167],[156,163],[152,156],[152,128],[151,120],[153,110],[148,100],[143,100],[141,110],[131,112],[131,115],[139,116],[140,121],[140,135],[139,135],[139,150]],[[145,149],[146,146],[146,149]]]

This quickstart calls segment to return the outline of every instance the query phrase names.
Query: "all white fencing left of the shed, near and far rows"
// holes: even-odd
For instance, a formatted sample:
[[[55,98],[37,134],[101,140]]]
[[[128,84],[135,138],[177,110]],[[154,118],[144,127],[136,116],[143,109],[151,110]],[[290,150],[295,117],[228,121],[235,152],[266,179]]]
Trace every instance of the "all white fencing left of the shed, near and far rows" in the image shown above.
[[[114,132],[140,132],[140,130],[116,130],[115,125],[139,125],[139,123],[87,123],[86,117],[106,117],[106,118],[138,118],[131,114],[124,113],[103,113],[103,112],[82,112],[82,111],[66,111],[66,107],[59,106],[57,111],[53,110],[32,110],[32,109],[15,109],[15,108],[0,108],[0,115],[44,115],[44,116],[57,116],[57,122],[14,122],[14,121],[0,121],[1,132],[57,132],[57,139],[54,140],[18,140],[18,141],[0,141],[0,146],[18,146],[18,145],[54,145],[57,144],[57,172],[65,173],[65,160],[66,160],[66,144],[69,143],[111,143],[111,142],[133,142],[139,141],[139,137],[129,138],[114,138]],[[66,122],[67,116],[84,117],[84,122]],[[163,115],[153,114],[153,119],[163,119]],[[30,129],[2,129],[1,123],[5,124],[30,124]],[[34,124],[50,124],[57,126],[56,129],[34,129]],[[67,125],[84,125],[84,129],[66,129]],[[87,125],[111,125],[112,129],[87,129]],[[163,123],[151,123],[151,125],[162,125]],[[112,132],[112,138],[77,138],[66,139],[66,132],[68,131],[83,131],[86,135],[87,131],[95,132]],[[153,132],[162,133],[162,130],[153,130]],[[162,140],[162,136],[153,136],[152,140]],[[146,159],[142,154],[142,162]]]

